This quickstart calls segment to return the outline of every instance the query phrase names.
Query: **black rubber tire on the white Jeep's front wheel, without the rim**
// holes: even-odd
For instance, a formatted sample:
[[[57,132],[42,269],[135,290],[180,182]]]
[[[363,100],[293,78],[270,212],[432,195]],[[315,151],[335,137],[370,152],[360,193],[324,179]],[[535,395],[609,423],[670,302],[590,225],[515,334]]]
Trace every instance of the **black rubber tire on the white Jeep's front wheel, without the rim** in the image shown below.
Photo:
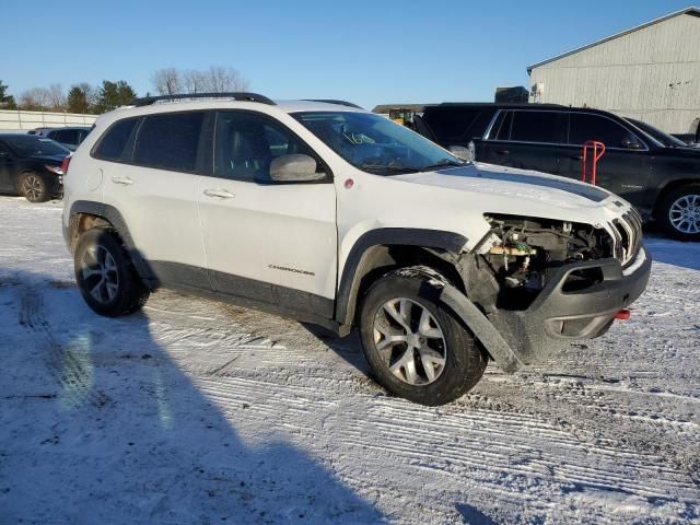
[[[373,283],[365,294],[360,310],[362,348],[377,383],[397,396],[429,406],[445,405],[466,394],[479,382],[488,364],[488,355],[474,336],[440,301],[440,291],[441,287],[435,283],[434,278],[421,275],[420,271],[399,270],[388,273]],[[422,371],[423,381],[425,378],[428,381],[424,384],[410,384],[407,381],[406,370],[404,372],[399,370],[398,374],[389,370],[389,365],[396,366],[401,357],[407,357],[405,352],[411,348],[408,342],[389,345],[392,349],[384,350],[384,352],[377,349],[375,342],[375,319],[380,319],[381,323],[384,323],[385,318],[388,319],[384,313],[384,306],[398,298],[405,298],[412,303],[409,305],[411,312],[427,310],[432,316],[431,323],[442,331],[443,339],[439,339],[436,346],[433,346],[440,353],[444,353],[444,365],[436,378],[431,380],[425,374],[427,369],[419,357],[422,355],[422,350],[417,348],[410,350],[412,358],[409,358],[409,361],[413,360],[412,366],[418,371],[418,375],[421,375],[420,371]],[[380,315],[384,315],[384,318],[377,317],[381,308],[383,311]],[[389,328],[396,329],[397,327]],[[377,337],[381,337],[382,329],[384,328],[381,327],[376,332]],[[434,328],[432,329],[434,330]],[[413,329],[412,331],[420,330]],[[425,341],[427,339],[423,338],[421,348]],[[382,342],[383,340],[380,340],[380,345]],[[387,358],[388,352],[392,354]]]

